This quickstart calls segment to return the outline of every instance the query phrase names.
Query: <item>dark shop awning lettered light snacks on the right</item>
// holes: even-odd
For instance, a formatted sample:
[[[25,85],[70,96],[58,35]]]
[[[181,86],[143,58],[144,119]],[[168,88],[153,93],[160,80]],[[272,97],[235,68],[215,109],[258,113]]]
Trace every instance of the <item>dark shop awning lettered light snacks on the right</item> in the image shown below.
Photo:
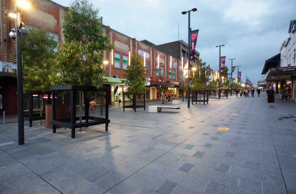
[[[271,68],[266,75],[265,81],[280,81],[283,79],[289,79],[296,75],[296,66],[291,67],[275,67]]]

